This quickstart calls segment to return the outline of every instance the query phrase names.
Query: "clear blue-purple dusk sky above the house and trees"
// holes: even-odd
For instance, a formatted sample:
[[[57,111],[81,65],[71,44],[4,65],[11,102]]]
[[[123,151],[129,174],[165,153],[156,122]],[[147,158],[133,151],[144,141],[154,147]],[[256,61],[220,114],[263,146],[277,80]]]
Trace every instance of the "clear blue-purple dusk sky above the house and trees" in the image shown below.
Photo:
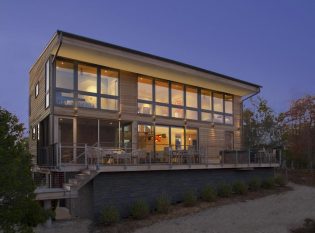
[[[260,84],[277,112],[315,94],[314,0],[0,0],[0,106],[26,126],[28,72],[57,29]]]

